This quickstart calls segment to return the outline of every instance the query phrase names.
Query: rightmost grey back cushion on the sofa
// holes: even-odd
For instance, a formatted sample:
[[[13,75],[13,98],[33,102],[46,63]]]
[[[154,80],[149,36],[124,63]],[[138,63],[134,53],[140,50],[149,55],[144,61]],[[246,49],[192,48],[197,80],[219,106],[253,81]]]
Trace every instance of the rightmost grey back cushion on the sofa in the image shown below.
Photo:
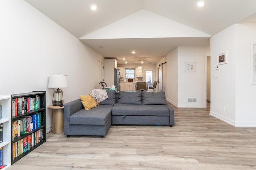
[[[164,92],[142,92],[142,104],[167,105]]]

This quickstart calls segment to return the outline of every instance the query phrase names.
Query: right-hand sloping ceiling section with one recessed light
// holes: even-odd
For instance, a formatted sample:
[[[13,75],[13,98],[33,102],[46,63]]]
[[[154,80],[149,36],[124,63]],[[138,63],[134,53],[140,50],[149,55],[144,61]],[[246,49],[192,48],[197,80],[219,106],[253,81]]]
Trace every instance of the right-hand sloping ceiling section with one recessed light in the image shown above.
[[[256,12],[256,0],[144,0],[143,9],[215,35]],[[255,21],[255,18],[254,18]]]

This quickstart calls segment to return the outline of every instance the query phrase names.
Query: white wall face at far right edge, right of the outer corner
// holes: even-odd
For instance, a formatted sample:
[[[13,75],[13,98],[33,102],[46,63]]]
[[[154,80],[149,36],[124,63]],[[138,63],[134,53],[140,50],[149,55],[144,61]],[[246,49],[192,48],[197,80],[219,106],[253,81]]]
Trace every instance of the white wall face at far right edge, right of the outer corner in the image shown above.
[[[251,43],[256,43],[256,23],[236,24],[235,126],[256,127],[256,84],[250,84]]]

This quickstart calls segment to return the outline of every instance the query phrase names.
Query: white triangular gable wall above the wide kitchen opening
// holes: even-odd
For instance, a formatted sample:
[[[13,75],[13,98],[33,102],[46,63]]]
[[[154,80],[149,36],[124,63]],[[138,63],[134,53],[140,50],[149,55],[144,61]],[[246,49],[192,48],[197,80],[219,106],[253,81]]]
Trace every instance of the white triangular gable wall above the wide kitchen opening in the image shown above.
[[[166,37],[211,37],[211,35],[147,10],[140,10],[80,39]]]

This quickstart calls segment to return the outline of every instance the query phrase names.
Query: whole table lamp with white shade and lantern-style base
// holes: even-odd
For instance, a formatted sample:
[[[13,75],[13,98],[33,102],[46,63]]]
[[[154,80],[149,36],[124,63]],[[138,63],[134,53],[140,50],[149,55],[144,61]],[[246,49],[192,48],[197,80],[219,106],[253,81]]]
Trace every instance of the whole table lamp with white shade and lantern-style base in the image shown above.
[[[52,106],[63,106],[63,92],[60,88],[68,88],[68,76],[67,75],[50,75],[48,88],[57,88],[53,92]]]

